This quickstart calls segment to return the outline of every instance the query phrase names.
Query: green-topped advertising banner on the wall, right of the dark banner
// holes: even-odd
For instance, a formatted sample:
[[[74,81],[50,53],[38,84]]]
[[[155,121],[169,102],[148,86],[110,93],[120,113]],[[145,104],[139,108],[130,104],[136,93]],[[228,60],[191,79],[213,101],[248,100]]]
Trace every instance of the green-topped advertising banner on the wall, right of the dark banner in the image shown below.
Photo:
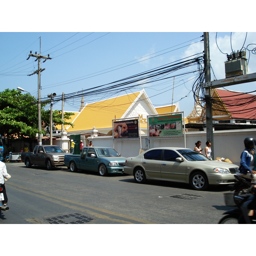
[[[148,134],[159,137],[183,137],[182,114],[148,117]]]

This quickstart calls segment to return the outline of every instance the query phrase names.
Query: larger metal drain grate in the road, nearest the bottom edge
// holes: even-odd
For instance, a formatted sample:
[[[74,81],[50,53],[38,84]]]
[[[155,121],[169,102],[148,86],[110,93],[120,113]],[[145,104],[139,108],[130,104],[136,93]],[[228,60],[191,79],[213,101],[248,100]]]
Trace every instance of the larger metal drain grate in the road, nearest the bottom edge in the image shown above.
[[[81,215],[80,213],[67,214],[44,219],[50,224],[84,224],[93,221],[93,218]]]

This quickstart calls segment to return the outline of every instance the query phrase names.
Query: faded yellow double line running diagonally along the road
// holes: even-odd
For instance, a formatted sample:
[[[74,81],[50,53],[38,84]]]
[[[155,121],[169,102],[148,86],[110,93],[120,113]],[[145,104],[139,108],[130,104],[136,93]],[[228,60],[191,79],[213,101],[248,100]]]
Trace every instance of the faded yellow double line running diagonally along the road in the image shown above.
[[[71,200],[68,200],[68,199],[59,198],[59,197],[56,197],[56,196],[52,196],[52,195],[46,194],[44,192],[38,192],[38,191],[35,191],[33,189],[28,189],[28,188],[25,188],[23,186],[19,186],[17,184],[11,183],[11,182],[8,182],[8,186],[9,185],[13,189],[17,189],[17,190],[22,189],[23,192],[25,192],[27,194],[30,194],[30,195],[35,195],[36,194],[36,196],[38,196],[39,198],[45,199],[47,201],[51,201],[53,203],[62,205],[64,207],[68,207],[70,209],[75,209],[77,211],[84,211],[84,208],[82,208],[82,207],[89,208],[89,209],[86,209],[86,211],[90,215],[95,216],[96,218],[101,218],[101,219],[105,219],[105,220],[108,220],[108,221],[115,221],[115,222],[119,222],[119,223],[122,223],[122,224],[134,224],[133,222],[130,222],[130,221],[124,221],[124,220],[120,220],[120,219],[116,219],[116,218],[111,218],[111,217],[109,217],[107,215],[103,215],[101,213],[94,212],[94,211],[99,211],[99,212],[107,213],[107,214],[114,215],[114,216],[117,216],[117,217],[120,217],[120,218],[126,218],[128,220],[137,221],[139,223],[157,224],[157,223],[154,223],[154,222],[151,222],[151,221],[145,221],[145,220],[142,220],[140,218],[135,218],[135,217],[128,216],[128,215],[125,215],[125,214],[122,214],[122,213],[112,212],[112,211],[101,209],[101,208],[98,208],[98,207],[94,207],[94,206],[91,206],[91,205],[88,205],[88,204],[82,204],[82,203],[74,202],[74,201],[71,201]],[[75,204],[77,206],[72,206],[70,204],[62,203],[59,200],[67,202],[67,203]],[[92,209],[94,211],[92,211],[90,209]]]

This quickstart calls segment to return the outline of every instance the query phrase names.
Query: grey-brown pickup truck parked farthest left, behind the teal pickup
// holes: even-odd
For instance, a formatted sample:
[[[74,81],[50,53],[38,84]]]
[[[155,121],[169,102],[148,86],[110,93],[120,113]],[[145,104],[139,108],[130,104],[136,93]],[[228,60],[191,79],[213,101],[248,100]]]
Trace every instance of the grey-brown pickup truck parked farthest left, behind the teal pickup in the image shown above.
[[[48,170],[52,167],[64,166],[64,155],[66,153],[61,147],[55,145],[37,145],[33,152],[22,152],[21,160],[26,167],[32,165],[46,166]]]

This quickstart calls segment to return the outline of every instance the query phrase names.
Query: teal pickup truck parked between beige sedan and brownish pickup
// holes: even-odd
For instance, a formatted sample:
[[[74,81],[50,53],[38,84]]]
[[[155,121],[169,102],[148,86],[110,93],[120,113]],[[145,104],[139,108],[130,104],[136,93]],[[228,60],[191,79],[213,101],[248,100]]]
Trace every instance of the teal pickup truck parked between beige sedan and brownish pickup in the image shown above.
[[[108,173],[123,173],[125,157],[121,157],[113,148],[84,147],[81,155],[65,155],[64,165],[71,172],[78,169],[99,172],[106,176]]]

